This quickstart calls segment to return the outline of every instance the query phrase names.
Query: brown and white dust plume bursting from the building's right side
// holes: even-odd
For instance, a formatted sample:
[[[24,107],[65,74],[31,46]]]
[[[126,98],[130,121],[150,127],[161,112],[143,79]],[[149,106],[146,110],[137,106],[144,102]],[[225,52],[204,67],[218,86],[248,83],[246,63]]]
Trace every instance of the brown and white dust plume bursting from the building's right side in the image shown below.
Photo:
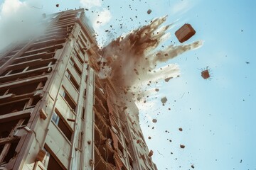
[[[176,64],[160,69],[156,67],[183,52],[201,47],[202,41],[187,45],[169,45],[164,50],[157,50],[161,42],[169,37],[166,30],[172,24],[161,26],[165,21],[166,16],[156,18],[148,25],[110,42],[102,49],[99,76],[102,79],[108,77],[120,89],[132,92],[142,91],[145,83],[149,81],[177,77],[179,69]]]

